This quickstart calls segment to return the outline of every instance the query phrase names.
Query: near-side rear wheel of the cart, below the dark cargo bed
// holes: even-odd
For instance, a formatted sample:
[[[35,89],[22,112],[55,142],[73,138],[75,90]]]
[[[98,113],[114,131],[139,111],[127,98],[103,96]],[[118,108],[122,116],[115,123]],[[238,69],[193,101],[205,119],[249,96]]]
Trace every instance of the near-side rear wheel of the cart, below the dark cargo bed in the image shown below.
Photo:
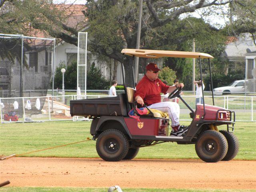
[[[129,142],[121,131],[109,129],[99,135],[96,141],[96,150],[105,161],[120,161],[128,153]]]

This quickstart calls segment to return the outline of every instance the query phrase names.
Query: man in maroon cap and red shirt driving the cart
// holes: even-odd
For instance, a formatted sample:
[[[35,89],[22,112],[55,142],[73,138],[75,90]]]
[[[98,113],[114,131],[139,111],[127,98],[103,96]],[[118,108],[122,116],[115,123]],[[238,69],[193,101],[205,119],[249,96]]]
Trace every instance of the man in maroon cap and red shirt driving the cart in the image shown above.
[[[157,64],[149,63],[146,66],[146,75],[140,80],[140,82],[138,82],[134,98],[141,106],[146,105],[148,108],[168,113],[172,121],[172,131],[170,136],[179,137],[188,130],[186,127],[180,126],[180,106],[175,102],[161,102],[160,93],[171,93],[178,87],[183,88],[184,84],[178,83],[173,86],[164,84],[158,78],[159,71],[160,69],[157,67]]]

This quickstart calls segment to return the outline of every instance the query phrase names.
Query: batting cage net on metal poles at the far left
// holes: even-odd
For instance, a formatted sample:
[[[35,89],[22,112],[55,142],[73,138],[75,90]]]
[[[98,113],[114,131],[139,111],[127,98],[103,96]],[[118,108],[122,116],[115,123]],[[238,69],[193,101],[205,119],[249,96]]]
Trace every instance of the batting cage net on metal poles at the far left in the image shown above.
[[[0,97],[46,96],[55,39],[0,34]]]

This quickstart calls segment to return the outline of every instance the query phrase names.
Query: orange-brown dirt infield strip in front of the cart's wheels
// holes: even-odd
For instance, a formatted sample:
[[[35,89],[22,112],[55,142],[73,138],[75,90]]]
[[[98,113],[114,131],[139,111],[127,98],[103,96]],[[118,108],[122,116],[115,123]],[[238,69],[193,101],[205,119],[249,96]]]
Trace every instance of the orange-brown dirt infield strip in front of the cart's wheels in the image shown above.
[[[9,186],[256,189],[256,161],[10,158],[0,172]]]

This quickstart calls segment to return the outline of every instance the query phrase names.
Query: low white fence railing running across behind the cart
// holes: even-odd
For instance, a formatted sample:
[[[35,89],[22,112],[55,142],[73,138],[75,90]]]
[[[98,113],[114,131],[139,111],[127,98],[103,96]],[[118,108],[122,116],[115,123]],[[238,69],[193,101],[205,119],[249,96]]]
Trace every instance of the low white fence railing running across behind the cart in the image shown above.
[[[46,97],[0,98],[1,123],[76,120],[70,116],[70,100],[102,98],[102,95],[66,95]],[[195,96],[182,96],[195,109]],[[167,101],[164,96],[162,101]],[[191,120],[190,110],[181,100],[169,100],[180,105],[180,120]],[[205,103],[212,105],[212,97],[205,96]],[[214,104],[236,112],[237,121],[256,121],[256,96],[215,96]]]

